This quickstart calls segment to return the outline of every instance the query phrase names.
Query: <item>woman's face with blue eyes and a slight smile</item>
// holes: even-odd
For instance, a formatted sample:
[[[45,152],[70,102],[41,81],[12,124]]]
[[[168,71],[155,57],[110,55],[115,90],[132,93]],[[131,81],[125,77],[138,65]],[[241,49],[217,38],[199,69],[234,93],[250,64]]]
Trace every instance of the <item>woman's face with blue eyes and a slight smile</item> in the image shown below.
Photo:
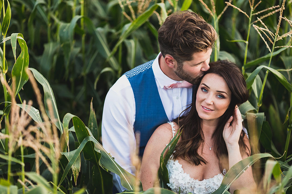
[[[203,120],[215,121],[222,116],[231,101],[231,91],[226,81],[217,74],[208,73],[196,94],[196,110]]]

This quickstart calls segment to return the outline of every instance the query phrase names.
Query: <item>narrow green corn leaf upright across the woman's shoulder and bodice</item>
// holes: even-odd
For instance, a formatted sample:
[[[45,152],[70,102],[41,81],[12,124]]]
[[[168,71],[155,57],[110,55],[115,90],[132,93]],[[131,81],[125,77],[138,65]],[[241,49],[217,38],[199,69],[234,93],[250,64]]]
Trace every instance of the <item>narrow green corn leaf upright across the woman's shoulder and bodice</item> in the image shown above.
[[[169,183],[169,178],[168,178],[168,170],[166,167],[166,163],[168,159],[170,158],[170,155],[172,155],[173,150],[175,149],[175,146],[178,142],[178,139],[181,136],[181,130],[179,129],[176,133],[176,135],[173,137],[173,139],[167,144],[167,146],[164,148],[160,155],[160,166],[158,169],[158,178],[160,181],[160,186],[162,188],[167,188],[170,189],[170,187],[167,186],[167,183]],[[167,153],[165,151],[168,149]],[[165,156],[164,156],[165,155]]]

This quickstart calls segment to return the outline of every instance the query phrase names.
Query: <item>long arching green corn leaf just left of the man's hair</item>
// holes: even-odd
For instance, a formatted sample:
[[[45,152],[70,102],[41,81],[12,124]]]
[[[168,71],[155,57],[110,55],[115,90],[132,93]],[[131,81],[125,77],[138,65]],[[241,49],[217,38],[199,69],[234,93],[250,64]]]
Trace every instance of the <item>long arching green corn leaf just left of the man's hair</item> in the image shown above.
[[[117,42],[117,44],[114,46],[111,55],[114,55],[114,53],[116,53],[117,48],[119,47],[119,45],[134,31],[137,30],[137,28],[139,28],[142,24],[144,24],[149,17],[153,14],[153,12],[158,8],[161,7],[162,10],[165,10],[165,4],[164,3],[156,3],[154,5],[152,5],[148,10],[146,10],[144,13],[142,13],[137,19],[135,19],[129,26],[127,29],[125,29],[123,31],[123,33],[121,34],[119,41]],[[165,20],[165,18],[167,17],[166,12],[163,11],[163,17],[161,18],[163,21]],[[165,18],[164,18],[165,17]]]

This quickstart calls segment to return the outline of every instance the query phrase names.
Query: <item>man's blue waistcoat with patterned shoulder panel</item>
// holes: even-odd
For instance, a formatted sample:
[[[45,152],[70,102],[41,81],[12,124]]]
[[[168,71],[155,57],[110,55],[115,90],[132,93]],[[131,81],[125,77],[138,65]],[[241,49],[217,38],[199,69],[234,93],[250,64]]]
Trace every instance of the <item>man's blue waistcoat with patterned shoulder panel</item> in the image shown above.
[[[151,68],[153,61],[125,73],[135,98],[134,132],[140,133],[140,156],[143,156],[145,146],[154,130],[168,121]]]

